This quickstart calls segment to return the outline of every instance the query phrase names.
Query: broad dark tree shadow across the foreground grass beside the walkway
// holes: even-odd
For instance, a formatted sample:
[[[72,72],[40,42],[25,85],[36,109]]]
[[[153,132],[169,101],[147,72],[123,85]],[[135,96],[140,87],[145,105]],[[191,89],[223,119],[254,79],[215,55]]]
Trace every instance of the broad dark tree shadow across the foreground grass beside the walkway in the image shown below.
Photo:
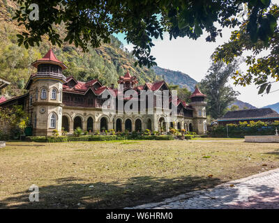
[[[54,179],[54,185],[39,187],[39,201],[30,202],[30,191],[12,194],[0,208],[125,208],[220,184],[219,178],[184,176],[158,178],[138,176],[126,181],[86,183],[82,178]]]

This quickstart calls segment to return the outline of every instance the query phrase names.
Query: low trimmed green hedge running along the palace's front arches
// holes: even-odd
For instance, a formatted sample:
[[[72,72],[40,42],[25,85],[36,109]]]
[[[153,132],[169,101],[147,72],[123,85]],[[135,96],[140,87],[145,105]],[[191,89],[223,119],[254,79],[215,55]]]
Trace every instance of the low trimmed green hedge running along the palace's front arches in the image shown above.
[[[87,135],[81,137],[27,137],[28,141],[35,142],[62,142],[62,141],[112,141],[126,139],[142,139],[142,140],[172,140],[172,135],[138,135],[131,136],[116,136],[116,135]]]

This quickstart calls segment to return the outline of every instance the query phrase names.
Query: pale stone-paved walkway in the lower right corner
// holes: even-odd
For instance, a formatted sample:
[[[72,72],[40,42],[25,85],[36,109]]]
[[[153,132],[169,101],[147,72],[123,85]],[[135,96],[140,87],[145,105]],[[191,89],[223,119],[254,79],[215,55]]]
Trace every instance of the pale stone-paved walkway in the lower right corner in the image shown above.
[[[279,169],[134,208],[279,208]]]

